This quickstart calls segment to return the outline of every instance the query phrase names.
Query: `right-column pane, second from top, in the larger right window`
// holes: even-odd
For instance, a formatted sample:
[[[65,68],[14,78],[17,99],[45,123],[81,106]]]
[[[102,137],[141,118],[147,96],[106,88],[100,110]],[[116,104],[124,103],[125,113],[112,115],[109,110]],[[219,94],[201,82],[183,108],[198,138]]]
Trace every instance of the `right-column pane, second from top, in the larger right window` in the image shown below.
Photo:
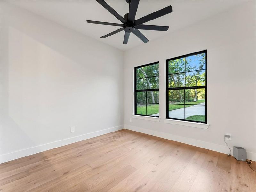
[[[205,85],[205,70],[186,72],[186,87]]]

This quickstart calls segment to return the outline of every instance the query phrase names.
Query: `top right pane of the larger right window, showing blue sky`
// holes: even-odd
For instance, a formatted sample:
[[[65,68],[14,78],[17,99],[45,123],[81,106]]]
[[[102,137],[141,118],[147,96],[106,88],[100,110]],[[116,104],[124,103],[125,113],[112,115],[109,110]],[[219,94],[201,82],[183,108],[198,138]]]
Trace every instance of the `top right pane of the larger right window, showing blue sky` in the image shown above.
[[[186,57],[186,71],[205,69],[205,53]]]

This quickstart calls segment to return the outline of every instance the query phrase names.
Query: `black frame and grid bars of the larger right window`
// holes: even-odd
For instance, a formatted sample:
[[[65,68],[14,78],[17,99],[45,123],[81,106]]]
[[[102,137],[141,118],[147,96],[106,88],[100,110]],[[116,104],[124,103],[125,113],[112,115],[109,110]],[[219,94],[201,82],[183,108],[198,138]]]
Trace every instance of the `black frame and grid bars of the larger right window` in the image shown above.
[[[205,53],[205,85],[204,86],[193,86],[193,87],[186,87],[186,57],[189,56],[193,56],[193,55],[197,55],[197,54],[202,54]],[[169,61],[171,60],[176,60],[176,59],[180,59],[180,58],[185,58],[185,66],[184,66],[184,73],[185,73],[185,84],[184,87],[169,87]],[[195,70],[198,71],[198,70]],[[190,71],[188,71],[190,72]],[[177,119],[177,118],[172,118],[169,117],[169,91],[170,90],[184,90],[184,97],[185,97],[185,90],[186,89],[205,89],[205,121],[204,122],[200,122],[200,121],[193,121],[193,120],[187,120],[186,119],[186,101],[184,98],[184,119]],[[183,105],[183,104],[180,104]],[[180,120],[180,121],[188,121],[188,122],[196,122],[196,123],[204,123],[207,124],[207,50],[203,50],[203,51],[198,51],[198,52],[194,52],[194,53],[189,53],[186,55],[182,55],[182,56],[178,56],[178,57],[174,57],[171,59],[167,59],[166,60],[166,118],[167,119],[174,119],[174,120]]]

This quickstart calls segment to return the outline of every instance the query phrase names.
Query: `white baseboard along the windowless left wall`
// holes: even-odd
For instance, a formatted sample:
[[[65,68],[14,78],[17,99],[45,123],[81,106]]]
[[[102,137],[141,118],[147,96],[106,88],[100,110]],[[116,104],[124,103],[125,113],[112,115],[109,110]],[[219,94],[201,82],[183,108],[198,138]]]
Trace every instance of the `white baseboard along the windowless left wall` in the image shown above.
[[[46,150],[49,150],[49,149],[61,147],[61,146],[68,145],[68,144],[71,144],[71,143],[75,143],[75,142],[78,142],[78,141],[90,139],[92,137],[97,137],[97,136],[104,135],[106,133],[110,133],[110,132],[114,132],[114,131],[118,131],[118,130],[121,130],[121,129],[124,129],[124,125],[111,127],[111,128],[108,128],[108,129],[102,129],[100,131],[86,133],[86,134],[83,134],[83,135],[78,135],[78,136],[75,136],[75,137],[70,137],[70,138],[67,138],[67,139],[53,141],[51,143],[46,143],[46,144],[43,144],[43,145],[38,145],[38,146],[35,146],[35,147],[21,149],[21,150],[14,151],[14,152],[11,152],[11,153],[2,154],[0,156],[0,163],[4,163],[4,162],[11,161],[11,160],[14,160],[14,159],[18,159],[18,158],[21,158],[21,157],[33,155],[33,154],[36,154],[36,153],[40,153],[40,152],[43,152],[43,151],[46,151]]]

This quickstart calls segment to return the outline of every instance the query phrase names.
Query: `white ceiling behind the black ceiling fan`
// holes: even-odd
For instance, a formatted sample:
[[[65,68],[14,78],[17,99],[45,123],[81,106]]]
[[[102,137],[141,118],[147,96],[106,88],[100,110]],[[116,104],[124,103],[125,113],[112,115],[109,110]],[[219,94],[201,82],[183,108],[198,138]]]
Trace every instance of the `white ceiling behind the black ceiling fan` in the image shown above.
[[[131,34],[128,44],[123,45],[124,31],[105,39],[100,38],[120,27],[90,24],[86,20],[121,22],[95,0],[7,1],[121,50],[144,44],[137,36]],[[129,5],[125,0],[105,1],[121,16],[128,12]],[[170,26],[167,32],[140,30],[149,41],[152,41],[244,2],[247,0],[140,0],[135,19],[172,5],[172,13],[146,23]]]

